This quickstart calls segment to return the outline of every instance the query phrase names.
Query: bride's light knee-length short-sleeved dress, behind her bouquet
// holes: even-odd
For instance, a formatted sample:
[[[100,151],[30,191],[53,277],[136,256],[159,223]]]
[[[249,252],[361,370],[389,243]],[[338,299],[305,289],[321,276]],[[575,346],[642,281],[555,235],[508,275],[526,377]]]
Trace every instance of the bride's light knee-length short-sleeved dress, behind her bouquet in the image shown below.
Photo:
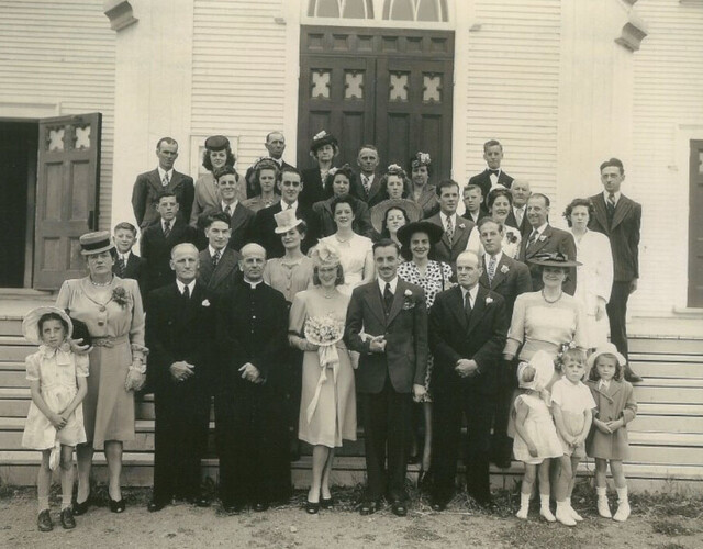
[[[300,292],[290,311],[289,333],[304,339],[310,317],[331,315],[345,321],[349,296],[335,292],[331,299],[317,290]],[[300,399],[298,438],[313,446],[342,446],[342,440],[356,440],[356,393],[354,368],[344,341],[337,344],[339,362],[323,372],[316,350],[303,354],[303,382]],[[323,376],[324,373],[324,376]]]

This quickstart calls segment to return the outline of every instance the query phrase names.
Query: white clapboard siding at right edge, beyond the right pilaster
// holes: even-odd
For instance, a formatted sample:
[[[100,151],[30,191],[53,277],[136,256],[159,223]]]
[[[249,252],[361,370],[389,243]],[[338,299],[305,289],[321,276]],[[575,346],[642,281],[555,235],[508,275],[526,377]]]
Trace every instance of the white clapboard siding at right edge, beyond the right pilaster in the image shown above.
[[[679,124],[703,124],[703,2],[640,0],[635,9],[648,35],[635,54],[634,166],[623,186],[643,204],[641,278],[629,309],[670,314],[685,304],[689,144],[677,133]]]

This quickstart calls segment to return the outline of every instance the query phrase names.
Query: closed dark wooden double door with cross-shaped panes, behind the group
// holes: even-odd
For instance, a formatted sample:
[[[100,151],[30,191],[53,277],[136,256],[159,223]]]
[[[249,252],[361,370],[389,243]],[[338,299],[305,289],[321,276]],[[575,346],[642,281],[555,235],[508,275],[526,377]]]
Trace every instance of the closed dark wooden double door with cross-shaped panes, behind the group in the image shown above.
[[[433,180],[451,170],[454,33],[303,26],[298,166],[312,167],[312,136],[339,141],[339,166],[356,166],[362,144],[379,150],[379,170],[406,168],[429,153]]]

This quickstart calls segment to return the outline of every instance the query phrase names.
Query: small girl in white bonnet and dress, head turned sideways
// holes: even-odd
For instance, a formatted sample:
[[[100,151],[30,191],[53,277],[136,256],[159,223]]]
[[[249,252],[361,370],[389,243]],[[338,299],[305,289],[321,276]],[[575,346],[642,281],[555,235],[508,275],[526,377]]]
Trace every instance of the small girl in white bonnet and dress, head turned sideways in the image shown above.
[[[554,360],[545,351],[537,351],[529,363],[520,368],[517,379],[523,390],[515,399],[515,437],[513,453],[525,463],[520,491],[517,518],[527,518],[529,496],[539,477],[539,515],[554,523],[549,511],[549,462],[563,453],[561,442],[549,413],[549,392],[545,389],[554,376]]]

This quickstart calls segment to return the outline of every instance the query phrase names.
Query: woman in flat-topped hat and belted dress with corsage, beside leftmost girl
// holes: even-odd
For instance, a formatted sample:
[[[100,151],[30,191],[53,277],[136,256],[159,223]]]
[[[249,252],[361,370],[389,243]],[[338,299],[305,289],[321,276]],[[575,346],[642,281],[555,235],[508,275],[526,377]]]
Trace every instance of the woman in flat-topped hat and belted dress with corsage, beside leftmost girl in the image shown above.
[[[88,394],[83,419],[88,442],[78,446],[78,494],[74,514],[86,513],[90,502],[93,450],[104,450],[108,461],[110,509],[124,511],[120,486],[122,447],[134,440],[134,392],[145,381],[144,309],[135,280],[112,273],[115,250],[110,233],[80,237],[88,276],[66,280],[56,306],[83,322],[92,338]]]

